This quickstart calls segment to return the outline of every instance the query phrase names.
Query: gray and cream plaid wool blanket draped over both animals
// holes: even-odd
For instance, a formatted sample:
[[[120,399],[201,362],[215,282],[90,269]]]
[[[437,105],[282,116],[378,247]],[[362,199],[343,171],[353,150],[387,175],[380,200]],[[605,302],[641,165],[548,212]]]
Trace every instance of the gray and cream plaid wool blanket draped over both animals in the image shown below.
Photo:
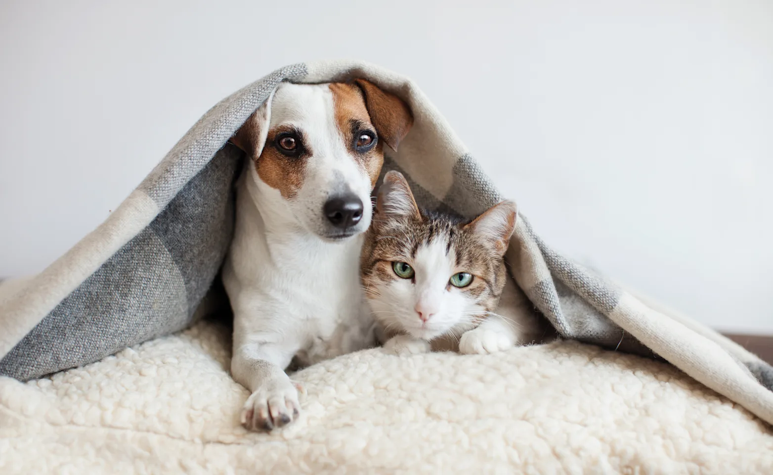
[[[422,206],[473,217],[502,199],[407,77],[352,61],[281,68],[216,104],[103,224],[5,292],[0,374],[26,381],[87,364],[216,310],[219,302],[208,291],[230,244],[233,181],[243,160],[228,139],[283,80],[354,77],[410,104],[414,128],[400,152],[385,149],[384,170],[402,172]],[[754,354],[553,251],[523,214],[506,258],[561,337],[663,358],[773,423],[773,368]]]

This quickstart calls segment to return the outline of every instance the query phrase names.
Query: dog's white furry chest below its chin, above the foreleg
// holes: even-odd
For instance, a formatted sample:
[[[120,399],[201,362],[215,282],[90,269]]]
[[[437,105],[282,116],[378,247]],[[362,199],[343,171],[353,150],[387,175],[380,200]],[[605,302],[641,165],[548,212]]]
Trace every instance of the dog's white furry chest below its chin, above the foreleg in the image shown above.
[[[278,237],[257,217],[235,240],[223,272],[231,292],[234,344],[273,343],[314,364],[373,344],[373,320],[359,282],[363,237],[329,243],[315,236]],[[253,226],[254,225],[254,226]]]

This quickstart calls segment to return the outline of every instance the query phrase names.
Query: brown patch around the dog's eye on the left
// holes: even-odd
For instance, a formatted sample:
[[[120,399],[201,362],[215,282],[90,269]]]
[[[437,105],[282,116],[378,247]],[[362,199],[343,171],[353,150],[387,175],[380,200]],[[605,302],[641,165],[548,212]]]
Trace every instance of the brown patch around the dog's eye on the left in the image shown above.
[[[268,131],[255,169],[268,186],[290,200],[301,189],[306,159],[312,153],[301,131],[286,125],[274,127]]]

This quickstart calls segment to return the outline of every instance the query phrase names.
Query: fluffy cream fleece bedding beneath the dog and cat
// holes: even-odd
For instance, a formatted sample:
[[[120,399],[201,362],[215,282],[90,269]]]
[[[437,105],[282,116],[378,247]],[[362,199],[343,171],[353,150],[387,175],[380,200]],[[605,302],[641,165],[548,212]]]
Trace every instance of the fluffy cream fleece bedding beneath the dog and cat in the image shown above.
[[[215,323],[22,384],[0,473],[773,473],[771,429],[668,364],[558,341],[366,350],[295,374],[295,424],[244,431]]]

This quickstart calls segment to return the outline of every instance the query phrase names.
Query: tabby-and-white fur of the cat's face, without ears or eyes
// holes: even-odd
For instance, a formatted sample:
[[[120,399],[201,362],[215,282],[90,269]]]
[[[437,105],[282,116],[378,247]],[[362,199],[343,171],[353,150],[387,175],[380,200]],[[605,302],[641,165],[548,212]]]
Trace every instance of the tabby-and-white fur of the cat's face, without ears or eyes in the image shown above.
[[[400,263],[413,272],[398,275]],[[471,274],[472,280],[453,284],[459,272]],[[373,316],[393,330],[415,326],[416,306],[427,301],[440,309],[437,325],[448,331],[469,329],[475,316],[495,310],[507,279],[501,251],[481,227],[421,210],[376,217],[366,233],[361,275]]]

